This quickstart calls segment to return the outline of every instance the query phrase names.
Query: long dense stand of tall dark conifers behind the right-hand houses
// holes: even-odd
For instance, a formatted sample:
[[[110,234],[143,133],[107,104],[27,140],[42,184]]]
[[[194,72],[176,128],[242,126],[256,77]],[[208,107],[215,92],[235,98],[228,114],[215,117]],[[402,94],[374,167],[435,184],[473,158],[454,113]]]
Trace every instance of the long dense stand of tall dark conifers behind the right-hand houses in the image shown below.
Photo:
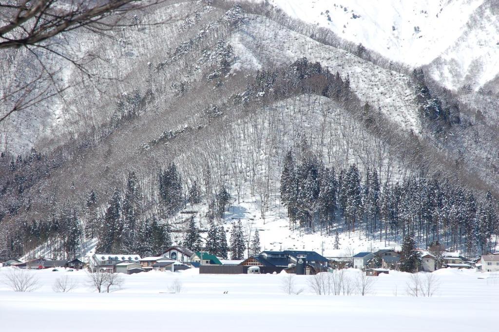
[[[478,201],[471,190],[447,179],[410,176],[401,183],[380,183],[376,170],[361,175],[356,165],[324,167],[310,153],[296,162],[286,154],[280,182],[281,203],[291,229],[308,227],[330,233],[342,224],[363,229],[373,240],[390,243],[414,234],[420,246],[464,249],[469,257],[492,250],[499,235],[498,202],[490,191]]]

